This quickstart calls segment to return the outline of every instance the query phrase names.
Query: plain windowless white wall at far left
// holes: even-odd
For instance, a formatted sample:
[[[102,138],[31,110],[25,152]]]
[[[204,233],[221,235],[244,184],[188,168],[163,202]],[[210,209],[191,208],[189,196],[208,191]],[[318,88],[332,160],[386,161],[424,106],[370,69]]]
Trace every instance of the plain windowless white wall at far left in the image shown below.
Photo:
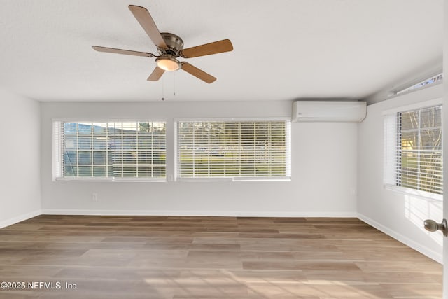
[[[40,104],[0,89],[0,228],[41,212]]]

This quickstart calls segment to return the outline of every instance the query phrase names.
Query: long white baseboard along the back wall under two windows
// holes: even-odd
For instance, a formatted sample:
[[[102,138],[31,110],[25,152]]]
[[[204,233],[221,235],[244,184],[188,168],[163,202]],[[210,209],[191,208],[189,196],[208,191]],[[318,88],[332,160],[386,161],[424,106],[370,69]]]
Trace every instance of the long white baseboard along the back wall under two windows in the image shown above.
[[[286,212],[286,211],[175,211],[175,210],[91,210],[43,209],[49,215],[102,216],[230,216],[230,217],[333,217],[356,218],[356,212]]]

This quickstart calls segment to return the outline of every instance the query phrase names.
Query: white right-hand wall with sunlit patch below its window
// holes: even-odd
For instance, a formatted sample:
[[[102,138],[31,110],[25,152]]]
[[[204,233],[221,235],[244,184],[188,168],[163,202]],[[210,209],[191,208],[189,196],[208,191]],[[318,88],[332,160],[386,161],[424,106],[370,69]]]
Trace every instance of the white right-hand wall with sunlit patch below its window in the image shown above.
[[[442,234],[426,232],[423,221],[442,220],[442,202],[386,190],[383,186],[382,112],[442,97],[442,85],[367,106],[358,127],[358,217],[421,253],[442,262]]]

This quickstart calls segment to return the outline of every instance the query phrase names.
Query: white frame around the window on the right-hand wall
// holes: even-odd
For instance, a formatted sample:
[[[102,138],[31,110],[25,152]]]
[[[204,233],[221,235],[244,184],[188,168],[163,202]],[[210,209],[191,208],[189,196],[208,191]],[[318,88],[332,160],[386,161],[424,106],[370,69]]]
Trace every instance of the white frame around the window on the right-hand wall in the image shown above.
[[[436,106],[443,106],[443,99],[436,98],[430,99],[423,102],[418,102],[415,104],[409,104],[406,106],[398,106],[393,109],[388,109],[383,111],[384,116],[384,174],[383,174],[383,185],[386,190],[392,190],[396,193],[401,193],[403,195],[411,195],[414,197],[420,197],[426,200],[436,200],[442,201],[443,194],[431,193],[425,190],[418,190],[414,188],[409,188],[407,186],[399,186],[398,183],[400,178],[395,175],[395,169],[398,165],[401,165],[401,160],[397,156],[397,148],[399,145],[398,138],[398,128],[400,127],[400,118],[398,113],[406,113],[409,111],[418,111],[423,109],[428,109]],[[443,130],[444,123],[444,113],[443,109],[440,111],[442,125],[441,130]],[[391,131],[393,130],[393,134]],[[421,128],[419,128],[421,130]],[[443,135],[443,132],[442,132]],[[442,153],[443,153],[443,142],[442,142]],[[443,157],[442,157],[443,158]],[[400,166],[401,167],[401,166]],[[443,165],[442,165],[443,167]],[[400,168],[401,169],[401,168]],[[398,172],[398,171],[397,171]],[[443,173],[443,169],[442,169]],[[442,188],[443,193],[443,188]]]

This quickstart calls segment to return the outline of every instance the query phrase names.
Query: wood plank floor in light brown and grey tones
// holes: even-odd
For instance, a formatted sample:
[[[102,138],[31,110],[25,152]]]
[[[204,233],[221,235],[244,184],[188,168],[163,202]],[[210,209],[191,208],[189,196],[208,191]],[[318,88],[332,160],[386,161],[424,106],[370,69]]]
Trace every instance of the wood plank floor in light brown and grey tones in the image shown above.
[[[442,266],[356,218],[42,215],[0,230],[0,298],[442,298]],[[45,287],[45,286],[42,286]]]

